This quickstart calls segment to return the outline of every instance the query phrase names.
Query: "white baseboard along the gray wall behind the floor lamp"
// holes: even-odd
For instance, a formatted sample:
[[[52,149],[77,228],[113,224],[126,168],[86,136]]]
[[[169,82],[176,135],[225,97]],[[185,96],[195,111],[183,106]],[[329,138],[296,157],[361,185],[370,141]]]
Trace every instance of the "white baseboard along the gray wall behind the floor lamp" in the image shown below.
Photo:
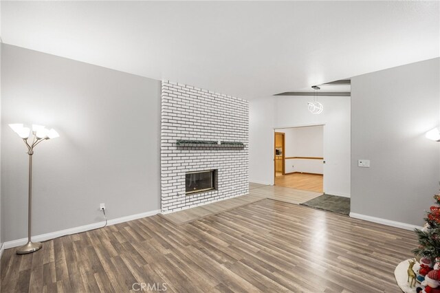
[[[140,213],[140,214],[130,215],[130,216],[126,216],[126,217],[120,217],[120,218],[116,218],[116,219],[109,219],[107,221],[107,226],[123,223],[125,221],[132,221],[134,219],[150,217],[150,216],[156,215],[158,213],[160,213],[160,210],[151,210],[146,213]],[[79,226],[79,227],[69,228],[69,229],[60,230],[60,231],[56,231],[56,232],[35,235],[35,236],[32,236],[32,241],[46,241],[46,240],[54,239],[56,237],[61,237],[64,235],[86,232],[88,230],[100,228],[100,227],[104,226],[104,224],[105,224],[105,221],[100,221],[98,223],[89,224],[89,225],[85,225],[85,226]],[[12,241],[6,241],[5,243],[3,243],[2,247],[3,247],[3,249],[14,248],[17,246],[25,245],[26,243],[28,243],[28,238],[22,238],[22,239],[17,239],[17,240],[12,240]]]

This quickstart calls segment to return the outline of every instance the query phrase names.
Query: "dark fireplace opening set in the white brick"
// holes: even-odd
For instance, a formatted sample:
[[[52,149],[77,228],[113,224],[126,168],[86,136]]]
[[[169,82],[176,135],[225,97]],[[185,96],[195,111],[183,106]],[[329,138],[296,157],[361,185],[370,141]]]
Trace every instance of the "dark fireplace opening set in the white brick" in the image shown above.
[[[216,189],[217,170],[195,171],[185,174],[185,193],[201,193]]]

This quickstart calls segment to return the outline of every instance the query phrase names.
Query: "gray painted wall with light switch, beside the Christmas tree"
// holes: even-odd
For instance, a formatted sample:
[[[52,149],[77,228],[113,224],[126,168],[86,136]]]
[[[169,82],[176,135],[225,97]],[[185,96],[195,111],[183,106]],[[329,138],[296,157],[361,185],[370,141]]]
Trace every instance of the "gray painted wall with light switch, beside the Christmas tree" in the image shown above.
[[[421,226],[439,191],[440,58],[351,79],[351,212]],[[358,167],[371,160],[371,168]]]

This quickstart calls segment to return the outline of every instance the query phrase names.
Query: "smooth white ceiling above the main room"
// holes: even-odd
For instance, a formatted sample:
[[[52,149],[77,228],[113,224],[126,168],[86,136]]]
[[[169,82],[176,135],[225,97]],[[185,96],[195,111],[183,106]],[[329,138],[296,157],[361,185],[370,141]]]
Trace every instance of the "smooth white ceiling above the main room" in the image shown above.
[[[2,1],[4,43],[252,99],[439,57],[439,1]]]

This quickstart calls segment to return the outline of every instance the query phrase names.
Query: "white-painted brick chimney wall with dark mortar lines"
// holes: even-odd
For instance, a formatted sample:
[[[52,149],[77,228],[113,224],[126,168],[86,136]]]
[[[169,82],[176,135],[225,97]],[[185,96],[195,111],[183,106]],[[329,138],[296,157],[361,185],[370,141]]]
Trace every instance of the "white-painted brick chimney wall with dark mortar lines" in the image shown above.
[[[177,140],[243,142],[244,148],[176,146]],[[162,81],[162,213],[249,193],[247,100]],[[217,190],[185,194],[185,173],[217,169]]]

